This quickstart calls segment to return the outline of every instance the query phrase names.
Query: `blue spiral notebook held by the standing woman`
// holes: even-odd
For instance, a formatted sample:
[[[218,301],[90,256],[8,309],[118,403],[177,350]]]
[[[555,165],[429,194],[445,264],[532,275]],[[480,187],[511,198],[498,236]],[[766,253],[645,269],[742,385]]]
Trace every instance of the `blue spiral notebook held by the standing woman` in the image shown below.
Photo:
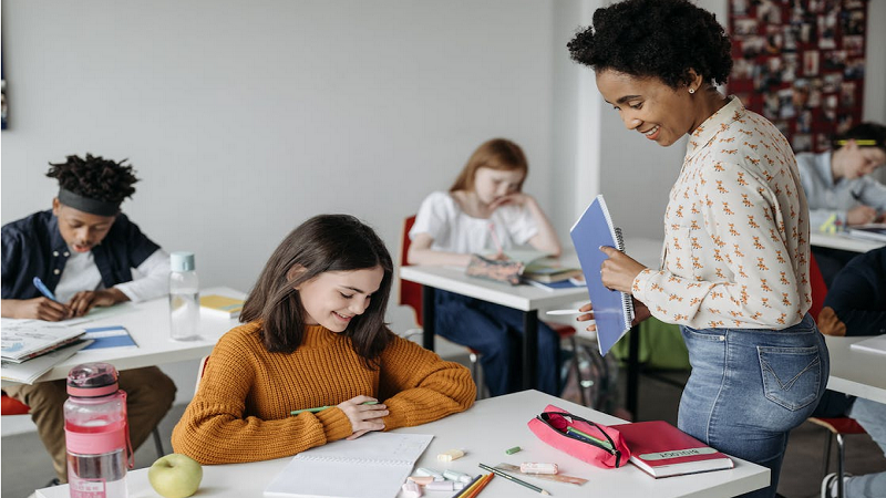
[[[600,281],[600,264],[607,259],[600,246],[625,251],[621,230],[612,226],[602,195],[598,195],[569,230],[585,273],[588,297],[594,305],[597,323],[597,343],[600,354],[606,354],[629,330],[633,321],[633,301],[630,294],[609,290]]]

